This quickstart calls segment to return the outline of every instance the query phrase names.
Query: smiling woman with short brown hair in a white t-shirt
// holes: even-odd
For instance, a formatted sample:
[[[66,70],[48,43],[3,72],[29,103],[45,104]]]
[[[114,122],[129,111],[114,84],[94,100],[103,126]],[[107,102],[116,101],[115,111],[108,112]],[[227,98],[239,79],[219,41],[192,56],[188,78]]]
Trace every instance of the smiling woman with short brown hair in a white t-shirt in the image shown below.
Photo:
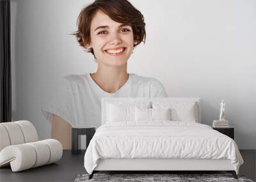
[[[42,109],[63,149],[71,148],[72,126],[100,126],[101,98],[167,96],[158,80],[127,73],[132,50],[146,36],[143,15],[129,1],[96,0],[83,8],[77,25],[77,41],[98,66],[95,73],[66,76],[58,95]]]

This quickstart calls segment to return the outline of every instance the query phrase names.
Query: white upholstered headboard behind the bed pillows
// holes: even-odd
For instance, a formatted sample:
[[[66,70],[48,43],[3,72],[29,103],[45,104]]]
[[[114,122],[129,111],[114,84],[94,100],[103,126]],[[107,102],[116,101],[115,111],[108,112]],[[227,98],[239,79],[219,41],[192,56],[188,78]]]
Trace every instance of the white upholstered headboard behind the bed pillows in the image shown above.
[[[101,101],[101,123],[102,125],[107,121],[107,106],[109,103],[120,103],[124,105],[132,105],[132,104],[148,104],[150,108],[152,105],[156,105],[161,107],[161,103],[169,104],[175,107],[175,105],[186,105],[186,104],[193,104],[195,106],[195,118],[196,123],[201,123],[201,110],[202,110],[202,103],[200,102],[200,98],[102,98]]]

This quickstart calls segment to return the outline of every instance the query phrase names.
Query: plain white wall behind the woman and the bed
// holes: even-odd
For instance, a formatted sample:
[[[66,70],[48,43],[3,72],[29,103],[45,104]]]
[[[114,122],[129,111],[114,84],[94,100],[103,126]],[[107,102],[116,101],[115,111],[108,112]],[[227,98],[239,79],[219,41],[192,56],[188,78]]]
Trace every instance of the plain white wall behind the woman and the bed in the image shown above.
[[[51,136],[41,107],[61,77],[95,72],[93,56],[70,33],[92,1],[11,0],[13,120],[28,119]],[[221,99],[240,149],[256,149],[256,1],[141,1],[147,40],[129,72],[159,79],[169,96],[202,98],[202,123],[218,119]]]

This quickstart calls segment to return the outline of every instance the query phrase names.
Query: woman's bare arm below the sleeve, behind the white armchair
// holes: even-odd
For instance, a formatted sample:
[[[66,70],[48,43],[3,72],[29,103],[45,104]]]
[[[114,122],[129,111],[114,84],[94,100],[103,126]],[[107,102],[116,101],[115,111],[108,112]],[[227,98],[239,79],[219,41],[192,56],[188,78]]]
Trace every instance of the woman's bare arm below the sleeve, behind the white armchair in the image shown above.
[[[71,149],[72,126],[55,114],[53,114],[52,120],[52,139],[59,140],[63,149]]]

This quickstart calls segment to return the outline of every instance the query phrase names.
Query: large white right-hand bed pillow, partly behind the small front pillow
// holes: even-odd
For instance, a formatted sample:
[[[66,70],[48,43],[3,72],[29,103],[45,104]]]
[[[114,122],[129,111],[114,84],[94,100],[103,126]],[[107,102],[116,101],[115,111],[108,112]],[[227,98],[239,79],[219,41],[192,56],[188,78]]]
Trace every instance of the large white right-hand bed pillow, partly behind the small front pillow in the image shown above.
[[[171,109],[172,121],[199,122],[195,102],[152,102],[154,109]]]

